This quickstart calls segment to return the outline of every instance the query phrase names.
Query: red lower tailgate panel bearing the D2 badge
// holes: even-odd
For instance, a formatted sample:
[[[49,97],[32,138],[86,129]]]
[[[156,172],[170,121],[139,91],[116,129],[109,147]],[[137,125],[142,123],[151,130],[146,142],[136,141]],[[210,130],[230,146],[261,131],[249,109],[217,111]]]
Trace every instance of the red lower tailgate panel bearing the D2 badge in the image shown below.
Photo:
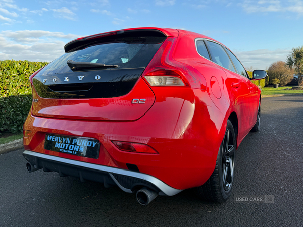
[[[34,90],[33,98],[37,100],[32,108],[35,116],[107,121],[136,120],[155,101],[154,93],[141,78],[131,92],[116,98],[49,99],[39,97]]]

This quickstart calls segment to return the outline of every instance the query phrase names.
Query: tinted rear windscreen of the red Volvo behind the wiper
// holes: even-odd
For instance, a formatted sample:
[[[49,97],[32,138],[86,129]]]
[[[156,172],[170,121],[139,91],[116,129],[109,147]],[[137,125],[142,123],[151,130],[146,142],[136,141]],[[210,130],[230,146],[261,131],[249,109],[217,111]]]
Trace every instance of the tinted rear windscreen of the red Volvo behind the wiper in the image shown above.
[[[126,37],[108,40],[106,43],[94,43],[92,46],[63,54],[44,67],[39,75],[72,72],[66,63],[68,60],[118,65],[114,69],[144,68],[164,40],[164,37]],[[100,68],[85,69],[88,70],[100,70]]]

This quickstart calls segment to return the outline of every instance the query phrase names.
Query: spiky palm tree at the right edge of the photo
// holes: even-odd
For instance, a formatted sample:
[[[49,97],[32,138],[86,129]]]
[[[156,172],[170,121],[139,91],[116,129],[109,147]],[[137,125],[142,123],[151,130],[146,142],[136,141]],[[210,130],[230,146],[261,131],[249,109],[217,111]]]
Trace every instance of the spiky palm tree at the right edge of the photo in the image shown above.
[[[287,56],[286,66],[289,69],[295,69],[298,76],[298,86],[303,86],[303,46],[299,46],[297,48],[292,48],[292,51]]]

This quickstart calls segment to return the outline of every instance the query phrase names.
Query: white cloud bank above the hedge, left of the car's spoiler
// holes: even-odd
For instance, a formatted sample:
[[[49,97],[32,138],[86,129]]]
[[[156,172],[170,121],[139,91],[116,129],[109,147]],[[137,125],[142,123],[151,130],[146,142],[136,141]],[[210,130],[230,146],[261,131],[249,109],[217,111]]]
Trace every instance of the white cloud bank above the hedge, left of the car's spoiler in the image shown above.
[[[50,31],[3,31],[0,32],[0,60],[51,62],[64,53],[68,41],[78,37]]]

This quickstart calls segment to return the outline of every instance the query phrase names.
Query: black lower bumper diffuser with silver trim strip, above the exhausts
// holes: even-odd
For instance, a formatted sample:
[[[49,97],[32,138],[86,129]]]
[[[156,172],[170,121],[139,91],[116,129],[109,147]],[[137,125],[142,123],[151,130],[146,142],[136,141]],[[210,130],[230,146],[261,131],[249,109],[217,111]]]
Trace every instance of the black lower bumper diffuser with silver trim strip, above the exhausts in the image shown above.
[[[35,168],[43,168],[45,172],[54,171],[62,177],[73,176],[80,178],[81,181],[101,182],[105,187],[117,185],[120,189],[129,193],[144,186],[157,191],[159,195],[173,196],[183,191],[172,188],[153,176],[126,169],[76,161],[28,150],[23,152],[23,156]]]

